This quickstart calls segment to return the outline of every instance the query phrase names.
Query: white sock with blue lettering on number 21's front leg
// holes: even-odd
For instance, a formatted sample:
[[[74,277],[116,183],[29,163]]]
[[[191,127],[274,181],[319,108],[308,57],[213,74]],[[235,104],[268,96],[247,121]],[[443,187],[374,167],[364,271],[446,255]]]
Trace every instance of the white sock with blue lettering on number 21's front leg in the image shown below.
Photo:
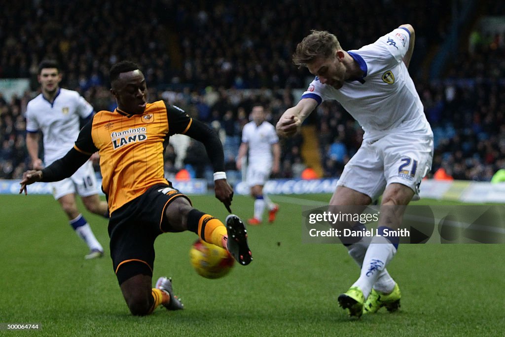
[[[360,278],[352,286],[358,286],[363,292],[363,296],[367,298],[372,286],[379,279],[380,273],[386,269],[395,253],[396,248],[389,240],[383,236],[374,236],[363,259]]]

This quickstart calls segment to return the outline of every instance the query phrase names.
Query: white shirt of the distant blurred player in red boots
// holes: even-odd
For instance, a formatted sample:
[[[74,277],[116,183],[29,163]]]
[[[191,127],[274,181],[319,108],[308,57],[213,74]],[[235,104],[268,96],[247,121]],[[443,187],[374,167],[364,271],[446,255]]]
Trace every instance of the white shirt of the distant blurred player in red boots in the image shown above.
[[[249,122],[242,129],[242,142],[249,145],[249,165],[272,165],[272,144],[279,142],[275,127],[267,121],[260,126]]]

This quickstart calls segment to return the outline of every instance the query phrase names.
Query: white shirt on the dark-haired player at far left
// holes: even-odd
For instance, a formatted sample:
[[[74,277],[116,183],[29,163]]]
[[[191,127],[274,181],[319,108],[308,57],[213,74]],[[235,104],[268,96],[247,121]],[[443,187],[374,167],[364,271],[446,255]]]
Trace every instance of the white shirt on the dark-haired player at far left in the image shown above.
[[[79,135],[79,117],[87,118],[93,107],[74,90],[60,88],[51,104],[42,94],[28,102],[26,131],[43,133],[44,164],[50,165],[74,147]]]

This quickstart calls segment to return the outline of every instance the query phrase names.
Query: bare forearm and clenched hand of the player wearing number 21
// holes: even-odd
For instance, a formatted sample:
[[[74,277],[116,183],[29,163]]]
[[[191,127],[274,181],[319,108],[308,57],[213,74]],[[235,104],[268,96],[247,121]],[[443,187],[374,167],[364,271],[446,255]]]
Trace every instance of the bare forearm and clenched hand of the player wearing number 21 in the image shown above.
[[[292,136],[298,131],[301,123],[317,107],[317,101],[312,98],[301,99],[297,105],[287,109],[277,122],[275,129],[279,136]]]

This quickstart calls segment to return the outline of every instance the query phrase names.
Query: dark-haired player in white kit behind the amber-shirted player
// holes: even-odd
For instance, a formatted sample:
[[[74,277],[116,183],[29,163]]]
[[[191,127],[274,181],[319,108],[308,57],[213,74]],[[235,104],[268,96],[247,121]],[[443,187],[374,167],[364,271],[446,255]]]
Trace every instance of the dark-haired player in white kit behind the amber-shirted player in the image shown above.
[[[77,91],[60,88],[62,75],[58,63],[44,60],[38,68],[41,93],[28,102],[26,109],[26,147],[34,170],[41,170],[63,157],[74,146],[80,130],[79,118],[93,115],[91,105]],[[39,131],[43,133],[44,163],[39,159]],[[95,238],[75,201],[77,192],[86,209],[109,216],[107,202],[100,201],[91,162],[86,162],[70,178],[51,183],[53,195],[69,218],[70,225],[89,247],[86,259],[102,257],[104,249]]]

